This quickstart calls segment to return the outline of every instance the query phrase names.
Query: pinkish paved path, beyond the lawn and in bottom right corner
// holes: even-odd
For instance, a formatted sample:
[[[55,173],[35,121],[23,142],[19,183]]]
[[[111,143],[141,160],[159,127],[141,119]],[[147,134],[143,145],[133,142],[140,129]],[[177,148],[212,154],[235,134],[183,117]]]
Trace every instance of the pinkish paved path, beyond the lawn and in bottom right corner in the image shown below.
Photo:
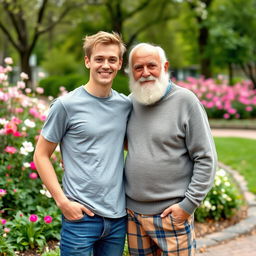
[[[241,137],[256,139],[256,130],[212,129],[216,137]],[[255,144],[256,145],[256,144]],[[248,235],[209,247],[197,256],[256,256],[256,230]]]

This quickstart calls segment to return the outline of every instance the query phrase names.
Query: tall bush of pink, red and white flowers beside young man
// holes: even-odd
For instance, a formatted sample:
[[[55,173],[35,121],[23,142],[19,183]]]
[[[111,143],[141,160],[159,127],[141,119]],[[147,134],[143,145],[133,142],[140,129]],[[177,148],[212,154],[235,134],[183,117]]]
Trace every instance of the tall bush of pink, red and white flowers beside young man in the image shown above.
[[[9,245],[10,252],[42,248],[47,240],[59,239],[60,229],[60,212],[33,162],[49,104],[39,94],[42,89],[32,92],[25,87],[25,73],[15,85],[9,84],[12,60],[5,62],[6,67],[0,66],[0,255]],[[52,163],[61,179],[58,152]]]

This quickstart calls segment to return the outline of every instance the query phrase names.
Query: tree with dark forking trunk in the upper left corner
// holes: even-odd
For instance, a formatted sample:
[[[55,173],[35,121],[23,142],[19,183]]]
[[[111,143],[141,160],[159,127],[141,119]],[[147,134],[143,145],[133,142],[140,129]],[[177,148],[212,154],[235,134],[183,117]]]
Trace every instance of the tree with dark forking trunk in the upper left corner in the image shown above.
[[[29,59],[41,35],[60,24],[67,14],[85,1],[0,0],[0,29],[20,57],[21,71],[31,79]],[[46,10],[52,16],[46,20]]]

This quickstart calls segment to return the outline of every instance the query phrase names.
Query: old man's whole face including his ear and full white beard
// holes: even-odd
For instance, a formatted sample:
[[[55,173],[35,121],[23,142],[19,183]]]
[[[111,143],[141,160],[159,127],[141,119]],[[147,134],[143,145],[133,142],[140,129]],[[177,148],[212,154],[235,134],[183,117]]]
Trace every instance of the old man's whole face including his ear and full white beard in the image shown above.
[[[154,47],[140,47],[131,60],[129,86],[134,98],[141,104],[150,105],[159,101],[168,86],[168,62],[161,62]]]

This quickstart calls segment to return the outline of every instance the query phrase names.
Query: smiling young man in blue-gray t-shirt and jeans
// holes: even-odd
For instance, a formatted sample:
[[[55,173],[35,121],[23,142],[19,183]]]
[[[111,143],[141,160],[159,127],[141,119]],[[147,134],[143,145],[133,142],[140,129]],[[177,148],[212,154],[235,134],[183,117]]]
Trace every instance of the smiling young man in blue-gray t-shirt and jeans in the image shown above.
[[[130,100],[111,89],[125,46],[116,33],[85,37],[89,81],[58,98],[38,140],[37,171],[63,214],[62,256],[122,255],[126,233],[123,142]],[[60,144],[63,190],[50,157]]]

